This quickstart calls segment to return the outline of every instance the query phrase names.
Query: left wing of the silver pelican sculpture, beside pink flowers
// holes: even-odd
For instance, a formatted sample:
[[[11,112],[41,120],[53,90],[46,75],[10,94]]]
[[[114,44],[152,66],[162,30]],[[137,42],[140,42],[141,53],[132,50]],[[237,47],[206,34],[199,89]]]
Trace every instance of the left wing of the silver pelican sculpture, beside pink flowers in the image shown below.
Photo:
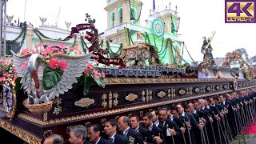
[[[15,66],[15,71],[17,72],[18,77],[22,77],[21,83],[23,89],[27,91],[31,90],[32,84],[34,83],[31,74],[27,69],[27,66],[25,65],[26,62],[29,61],[31,53],[20,55],[15,54],[14,51],[11,50],[11,53],[13,54],[13,61]],[[25,65],[25,67],[22,68],[22,65]]]

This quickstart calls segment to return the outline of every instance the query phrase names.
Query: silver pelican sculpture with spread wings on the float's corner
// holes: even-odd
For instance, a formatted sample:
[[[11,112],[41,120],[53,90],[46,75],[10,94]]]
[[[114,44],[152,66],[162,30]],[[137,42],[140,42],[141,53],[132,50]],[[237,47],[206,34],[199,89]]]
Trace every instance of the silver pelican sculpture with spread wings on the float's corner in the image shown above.
[[[59,62],[66,62],[66,69],[63,70],[61,79],[57,84],[49,90],[43,89],[43,71],[46,67],[46,59],[40,54],[26,53],[24,55],[14,54],[13,60],[18,77],[22,77],[22,88],[28,94],[28,104],[38,104],[49,102],[59,94],[64,94],[72,89],[72,84],[77,83],[78,77],[82,76],[82,72],[90,61],[92,54],[82,56],[69,56],[66,54],[53,54],[52,58]],[[24,66],[24,63],[27,65]]]

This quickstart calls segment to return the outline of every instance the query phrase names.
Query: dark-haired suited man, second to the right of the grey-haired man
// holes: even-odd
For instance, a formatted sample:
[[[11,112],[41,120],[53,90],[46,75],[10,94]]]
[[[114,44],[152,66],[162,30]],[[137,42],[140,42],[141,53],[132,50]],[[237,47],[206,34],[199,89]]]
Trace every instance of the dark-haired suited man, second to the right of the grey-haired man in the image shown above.
[[[110,142],[113,142],[114,144],[128,144],[129,140],[125,136],[122,136],[117,133],[118,129],[118,122],[114,119],[110,119],[105,123],[104,130],[106,134],[108,135],[108,140]]]

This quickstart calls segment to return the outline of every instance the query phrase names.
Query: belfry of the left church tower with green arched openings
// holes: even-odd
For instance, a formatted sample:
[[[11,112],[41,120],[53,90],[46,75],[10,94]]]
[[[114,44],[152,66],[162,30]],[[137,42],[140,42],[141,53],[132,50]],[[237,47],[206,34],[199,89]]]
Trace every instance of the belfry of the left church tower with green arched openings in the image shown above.
[[[107,0],[107,29],[122,23],[140,24],[142,2],[140,0]]]

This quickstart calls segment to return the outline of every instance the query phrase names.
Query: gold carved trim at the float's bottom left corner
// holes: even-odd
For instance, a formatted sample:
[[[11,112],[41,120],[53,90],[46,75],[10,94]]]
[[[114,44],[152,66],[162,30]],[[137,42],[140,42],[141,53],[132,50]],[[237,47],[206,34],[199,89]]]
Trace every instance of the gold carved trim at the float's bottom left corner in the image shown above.
[[[2,121],[2,119],[0,119],[0,126],[3,129],[10,131],[11,134],[16,135],[18,138],[22,138],[24,141],[26,141],[28,143],[41,144],[42,140],[40,138],[36,138],[32,134],[30,134],[24,130],[20,130],[15,126],[11,126],[9,123]]]

